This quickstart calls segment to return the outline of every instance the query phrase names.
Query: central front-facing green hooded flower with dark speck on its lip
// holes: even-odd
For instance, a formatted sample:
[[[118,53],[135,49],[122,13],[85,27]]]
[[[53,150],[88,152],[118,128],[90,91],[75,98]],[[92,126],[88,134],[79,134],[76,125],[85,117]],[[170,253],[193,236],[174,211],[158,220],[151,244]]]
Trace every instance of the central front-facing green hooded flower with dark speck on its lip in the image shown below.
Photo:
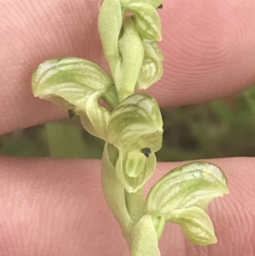
[[[159,106],[148,94],[133,94],[111,113],[107,141],[116,148],[116,176],[128,192],[138,191],[156,168],[162,141]]]

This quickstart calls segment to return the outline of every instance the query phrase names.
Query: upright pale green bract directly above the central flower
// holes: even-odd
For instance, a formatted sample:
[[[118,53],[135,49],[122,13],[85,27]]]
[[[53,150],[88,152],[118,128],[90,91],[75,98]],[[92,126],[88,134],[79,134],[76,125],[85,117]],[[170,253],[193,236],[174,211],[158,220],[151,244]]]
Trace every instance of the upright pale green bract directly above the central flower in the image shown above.
[[[130,17],[123,21],[123,35],[119,39],[121,58],[116,65],[114,79],[119,100],[133,94],[144,60],[144,46]]]

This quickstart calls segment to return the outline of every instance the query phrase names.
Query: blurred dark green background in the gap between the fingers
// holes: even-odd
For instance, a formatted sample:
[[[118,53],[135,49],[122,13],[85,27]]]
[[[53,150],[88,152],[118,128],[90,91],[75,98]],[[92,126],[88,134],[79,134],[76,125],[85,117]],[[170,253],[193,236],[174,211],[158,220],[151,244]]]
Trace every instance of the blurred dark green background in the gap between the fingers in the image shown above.
[[[158,161],[255,156],[255,86],[227,99],[161,112],[164,142]],[[103,145],[78,117],[0,136],[0,153],[13,156],[101,158]]]

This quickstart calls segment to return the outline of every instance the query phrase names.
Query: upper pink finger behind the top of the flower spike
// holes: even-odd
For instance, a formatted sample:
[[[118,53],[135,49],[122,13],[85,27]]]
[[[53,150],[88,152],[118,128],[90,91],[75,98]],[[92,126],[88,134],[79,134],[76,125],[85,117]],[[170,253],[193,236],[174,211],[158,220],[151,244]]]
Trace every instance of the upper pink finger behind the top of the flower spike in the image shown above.
[[[0,0],[0,134],[66,117],[31,94],[43,60],[79,56],[105,63],[99,1]],[[159,10],[164,75],[149,92],[161,105],[218,98],[255,82],[254,0],[167,0]]]

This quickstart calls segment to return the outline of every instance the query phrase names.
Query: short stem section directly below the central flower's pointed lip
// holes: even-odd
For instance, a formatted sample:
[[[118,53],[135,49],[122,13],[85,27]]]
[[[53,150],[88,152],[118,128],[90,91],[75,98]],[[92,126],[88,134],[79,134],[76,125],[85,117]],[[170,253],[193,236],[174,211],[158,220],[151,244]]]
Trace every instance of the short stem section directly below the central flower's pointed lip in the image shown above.
[[[135,225],[144,215],[144,188],[135,193],[125,191],[127,210]]]

